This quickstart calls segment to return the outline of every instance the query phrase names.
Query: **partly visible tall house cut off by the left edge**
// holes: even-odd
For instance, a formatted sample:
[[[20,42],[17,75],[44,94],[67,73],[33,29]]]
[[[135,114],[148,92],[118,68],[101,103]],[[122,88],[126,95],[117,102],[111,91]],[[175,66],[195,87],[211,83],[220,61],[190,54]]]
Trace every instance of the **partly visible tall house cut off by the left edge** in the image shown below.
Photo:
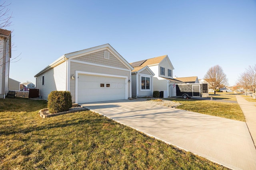
[[[0,98],[8,93],[11,44],[11,31],[0,29]]]

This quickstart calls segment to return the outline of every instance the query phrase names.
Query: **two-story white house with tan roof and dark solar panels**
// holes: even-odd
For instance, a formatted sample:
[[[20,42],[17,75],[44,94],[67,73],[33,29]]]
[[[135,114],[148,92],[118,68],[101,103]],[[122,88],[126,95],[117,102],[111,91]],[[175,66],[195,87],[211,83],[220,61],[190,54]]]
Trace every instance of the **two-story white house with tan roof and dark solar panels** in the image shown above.
[[[164,98],[176,96],[175,84],[182,82],[173,79],[174,67],[168,55],[131,63],[131,65],[134,64],[141,67],[148,66],[155,74],[153,76],[153,91],[163,91]]]

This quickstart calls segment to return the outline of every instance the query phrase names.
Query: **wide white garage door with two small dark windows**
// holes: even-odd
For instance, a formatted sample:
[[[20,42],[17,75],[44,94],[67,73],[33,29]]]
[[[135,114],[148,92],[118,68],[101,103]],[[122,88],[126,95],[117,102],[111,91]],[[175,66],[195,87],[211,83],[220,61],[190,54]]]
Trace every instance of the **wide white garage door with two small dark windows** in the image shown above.
[[[125,78],[78,74],[78,103],[125,99]]]

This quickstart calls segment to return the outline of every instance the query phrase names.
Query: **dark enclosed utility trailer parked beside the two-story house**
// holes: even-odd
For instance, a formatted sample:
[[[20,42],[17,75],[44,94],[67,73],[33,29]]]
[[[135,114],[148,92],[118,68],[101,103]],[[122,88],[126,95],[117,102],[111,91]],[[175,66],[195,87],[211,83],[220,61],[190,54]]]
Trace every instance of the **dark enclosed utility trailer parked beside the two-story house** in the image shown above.
[[[208,91],[207,83],[176,84],[176,96],[184,99],[188,97],[207,98]]]

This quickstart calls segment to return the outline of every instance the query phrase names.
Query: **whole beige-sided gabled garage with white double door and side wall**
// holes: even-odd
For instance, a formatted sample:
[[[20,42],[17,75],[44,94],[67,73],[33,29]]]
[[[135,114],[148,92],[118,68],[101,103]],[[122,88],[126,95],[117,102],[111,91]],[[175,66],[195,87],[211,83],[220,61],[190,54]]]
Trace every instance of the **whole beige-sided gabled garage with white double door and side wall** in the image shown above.
[[[109,44],[68,53],[35,75],[39,97],[70,91],[73,103],[128,99],[133,67]]]

